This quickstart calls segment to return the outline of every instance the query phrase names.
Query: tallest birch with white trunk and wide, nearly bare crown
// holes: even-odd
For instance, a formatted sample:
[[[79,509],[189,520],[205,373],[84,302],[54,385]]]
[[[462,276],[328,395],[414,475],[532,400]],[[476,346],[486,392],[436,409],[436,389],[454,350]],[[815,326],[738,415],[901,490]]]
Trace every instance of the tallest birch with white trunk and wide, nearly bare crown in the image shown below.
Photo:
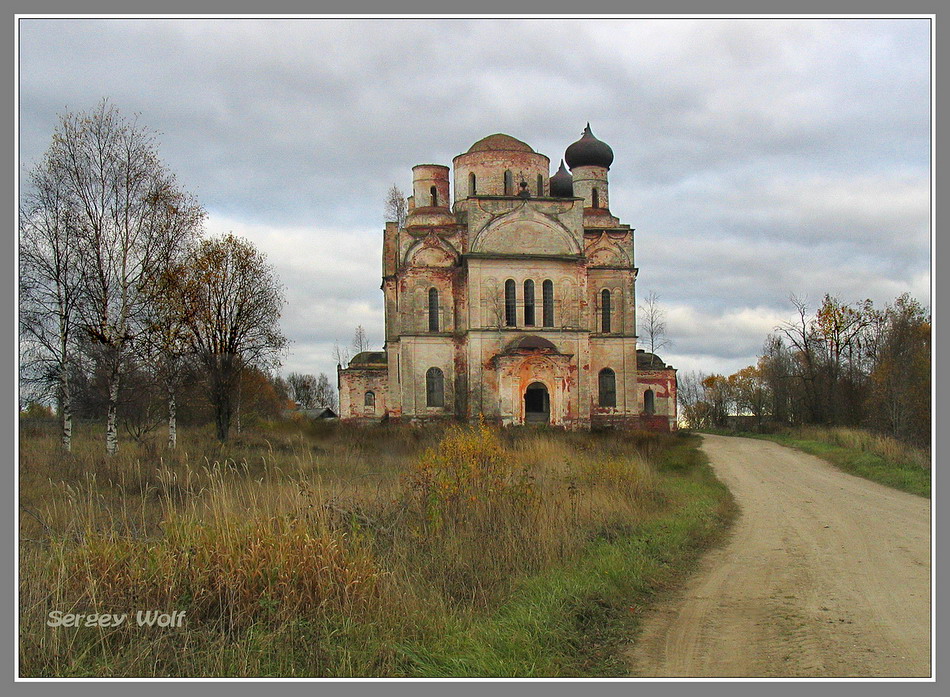
[[[75,324],[106,376],[113,455],[120,382],[145,328],[145,289],[197,234],[203,213],[159,159],[154,136],[105,100],[60,118],[44,162],[67,192],[80,280]]]

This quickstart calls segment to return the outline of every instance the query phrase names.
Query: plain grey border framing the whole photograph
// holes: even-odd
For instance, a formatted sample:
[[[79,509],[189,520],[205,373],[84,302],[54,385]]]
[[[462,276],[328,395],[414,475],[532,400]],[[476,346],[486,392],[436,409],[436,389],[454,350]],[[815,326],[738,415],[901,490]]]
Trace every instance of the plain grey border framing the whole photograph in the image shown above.
[[[498,0],[483,0],[477,5],[477,12],[480,14],[510,14],[515,12],[526,16],[534,13],[587,13],[587,14],[815,14],[822,16],[841,16],[841,15],[861,15],[867,16],[870,13],[880,15],[933,15],[935,9],[933,3],[923,3],[916,0],[903,3],[883,3],[880,0],[872,2],[857,2],[856,0],[837,1],[830,3],[816,2],[815,0],[806,0],[796,3],[762,3],[748,2],[740,0],[730,0],[724,3],[717,3],[719,7],[711,8],[706,3],[699,0],[690,0],[689,2],[660,2],[651,0],[649,2],[638,2],[635,5],[620,0],[597,0],[595,3],[571,3],[565,0],[530,0],[527,3],[521,3],[517,7],[510,3],[499,2]],[[7,467],[3,472],[4,484],[2,510],[5,513],[7,524],[4,526],[7,532],[0,536],[0,560],[3,562],[3,574],[0,575],[2,591],[0,597],[4,598],[4,616],[8,622],[4,623],[4,630],[0,632],[0,647],[2,647],[3,656],[3,681],[5,687],[11,688],[6,694],[64,694],[83,697],[84,695],[126,695],[126,694],[195,694],[200,692],[203,695],[214,697],[216,695],[259,695],[262,690],[277,690],[281,694],[301,694],[301,695],[325,695],[325,694],[387,694],[387,695],[443,695],[443,694],[461,694],[461,695],[483,695],[483,694],[509,694],[517,692],[519,695],[576,695],[583,691],[585,693],[608,694],[608,695],[679,695],[679,694],[699,694],[704,695],[812,695],[812,694],[835,694],[842,696],[850,695],[892,695],[897,691],[901,693],[922,693],[922,694],[947,694],[950,678],[943,675],[942,667],[947,665],[947,647],[942,642],[944,632],[942,628],[947,626],[948,610],[945,604],[937,602],[936,607],[936,658],[934,668],[937,675],[936,682],[903,682],[900,686],[892,685],[887,681],[873,682],[834,682],[834,681],[782,681],[782,682],[720,682],[720,681],[583,681],[583,684],[575,682],[548,682],[548,681],[530,681],[530,682],[488,682],[488,681],[403,681],[403,680],[384,680],[384,681],[358,681],[358,682],[280,682],[263,683],[256,681],[247,682],[196,682],[196,681],[161,681],[161,682],[129,682],[123,680],[114,680],[108,682],[84,682],[84,681],[45,681],[45,682],[16,682],[15,678],[15,656],[17,653],[16,637],[14,636],[14,618],[16,615],[16,587],[15,587],[15,546],[16,546],[16,526],[14,516],[17,509],[16,491],[13,486],[15,469],[17,466],[15,459],[15,424],[17,419],[15,395],[17,389],[16,381],[16,340],[17,331],[15,325],[15,283],[16,283],[16,265],[15,265],[15,247],[16,247],[16,208],[15,200],[15,181],[17,177],[15,163],[16,140],[15,124],[18,117],[16,111],[15,97],[15,72],[14,72],[14,54],[16,51],[15,15],[20,14],[128,14],[128,13],[161,13],[161,14],[261,14],[266,10],[268,13],[287,13],[287,14],[315,14],[315,13],[340,13],[340,14],[363,14],[363,13],[388,13],[398,9],[400,12],[411,12],[420,14],[429,13],[456,13],[471,12],[472,8],[446,7],[444,3],[433,0],[412,0],[411,2],[400,3],[400,7],[395,8],[387,5],[383,0],[371,0],[370,2],[323,2],[319,6],[313,3],[302,2],[301,0],[283,1],[269,3],[263,6],[260,3],[253,3],[249,0],[240,0],[239,2],[226,3],[222,0],[205,0],[200,3],[182,2],[181,0],[167,0],[162,5],[153,3],[128,3],[117,2],[116,0],[94,0],[92,2],[82,3],[84,7],[79,8],[75,3],[67,0],[48,0],[40,2],[23,2],[17,0],[10,3],[4,11],[4,35],[7,40],[4,42],[6,55],[5,65],[7,70],[3,71],[3,89],[0,95],[3,96],[5,107],[2,111],[3,131],[6,136],[3,139],[2,154],[4,161],[10,165],[3,169],[3,186],[0,191],[3,192],[3,211],[4,218],[10,224],[10,234],[4,235],[2,242],[2,252],[0,252],[0,278],[4,279],[6,288],[5,299],[0,303],[3,321],[0,327],[3,328],[3,358],[8,367],[0,373],[2,379],[3,393],[8,398],[3,402],[2,411],[0,411],[0,428],[2,428],[2,442],[4,450],[7,452]],[[767,5],[767,9],[763,8]],[[935,15],[936,16],[936,15]],[[945,19],[950,18],[947,11],[941,13]],[[948,19],[950,21],[950,19]],[[937,25],[939,26],[939,25]],[[947,32],[940,32],[946,34]],[[947,112],[947,90],[946,76],[950,75],[950,66],[948,66],[947,52],[936,54],[934,81],[938,93],[938,106],[944,107],[944,113]],[[940,71],[936,66],[943,67],[943,77],[940,79]],[[939,110],[937,110],[939,111]],[[946,119],[944,119],[945,121]],[[937,133],[945,133],[946,128],[940,128],[938,119]],[[938,138],[936,142],[940,142]],[[944,149],[938,156],[937,161],[933,163],[932,172],[936,172],[940,164],[946,171],[948,163],[947,151]],[[26,163],[28,164],[28,163]],[[933,174],[932,174],[933,176]],[[946,201],[948,192],[946,181],[937,182],[936,200]],[[934,331],[935,345],[948,345],[948,330],[946,325],[947,314],[950,311],[950,290],[945,282],[939,282],[936,270],[940,262],[947,262],[946,250],[943,253],[936,246],[937,241],[946,242],[946,228],[950,215],[946,211],[937,211],[935,236],[933,238],[932,252],[934,281],[934,299],[933,306],[937,307],[936,296],[939,295],[939,306],[942,308],[939,316],[934,313]],[[940,223],[943,222],[944,226]],[[936,375],[936,387],[946,387],[948,378],[944,375],[942,378]],[[938,416],[947,413],[948,398],[946,389],[936,389],[937,402],[935,404],[934,424],[936,430],[936,448],[937,453],[947,452],[950,448],[950,436],[946,431],[937,427]],[[942,424],[941,424],[942,425]],[[935,457],[934,471],[940,468],[940,463]],[[941,473],[942,474],[942,473]],[[935,477],[936,478],[936,477]],[[933,498],[934,515],[938,509],[937,501],[941,504],[950,498],[950,490],[939,494],[935,491]],[[943,508],[944,505],[939,506]],[[935,578],[943,578],[946,575],[946,520],[943,516],[937,516],[937,523],[943,534],[938,534],[934,539],[934,546],[937,556],[937,565],[935,566]],[[939,588],[938,588],[939,594]],[[266,685],[266,688],[265,688]],[[938,692],[939,690],[939,692]]]

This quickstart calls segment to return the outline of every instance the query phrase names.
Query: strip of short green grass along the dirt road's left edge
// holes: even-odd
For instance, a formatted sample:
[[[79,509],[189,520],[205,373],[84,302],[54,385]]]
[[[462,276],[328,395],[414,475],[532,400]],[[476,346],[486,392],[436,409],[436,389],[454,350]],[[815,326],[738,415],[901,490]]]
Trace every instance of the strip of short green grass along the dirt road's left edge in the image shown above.
[[[493,615],[453,628],[438,643],[401,647],[413,677],[614,677],[644,606],[677,584],[721,539],[736,509],[695,436],[663,454],[671,510],[602,531],[582,559],[527,579]]]

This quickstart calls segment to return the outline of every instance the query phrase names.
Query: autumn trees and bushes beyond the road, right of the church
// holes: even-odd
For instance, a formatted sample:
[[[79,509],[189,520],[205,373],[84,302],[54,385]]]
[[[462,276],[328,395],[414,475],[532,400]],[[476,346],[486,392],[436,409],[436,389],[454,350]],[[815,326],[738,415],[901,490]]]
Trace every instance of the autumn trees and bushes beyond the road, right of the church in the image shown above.
[[[826,295],[769,335],[757,365],[679,376],[684,419],[725,427],[745,416],[774,425],[852,426],[927,446],[931,432],[931,318],[907,294],[883,308]]]

